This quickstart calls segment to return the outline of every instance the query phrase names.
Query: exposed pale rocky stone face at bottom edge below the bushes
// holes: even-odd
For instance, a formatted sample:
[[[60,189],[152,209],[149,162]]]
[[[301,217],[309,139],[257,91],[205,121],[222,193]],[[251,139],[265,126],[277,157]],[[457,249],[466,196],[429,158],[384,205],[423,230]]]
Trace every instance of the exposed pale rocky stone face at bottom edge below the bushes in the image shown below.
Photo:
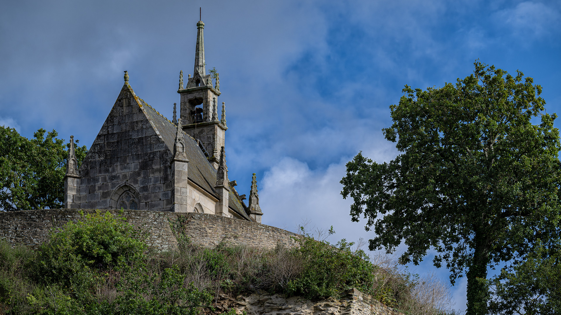
[[[258,291],[249,297],[238,297],[232,304],[236,313],[245,311],[247,315],[403,315],[357,289],[345,293],[341,298],[311,302],[301,297],[286,298],[284,294]]]

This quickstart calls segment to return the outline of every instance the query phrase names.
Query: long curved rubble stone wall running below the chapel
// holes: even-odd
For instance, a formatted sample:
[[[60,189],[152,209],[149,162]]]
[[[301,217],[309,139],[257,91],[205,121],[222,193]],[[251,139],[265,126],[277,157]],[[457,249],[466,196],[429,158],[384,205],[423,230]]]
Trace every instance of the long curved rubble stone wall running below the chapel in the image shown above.
[[[59,228],[68,221],[80,220],[80,211],[94,213],[95,209],[44,209],[0,212],[0,239],[12,245],[25,244],[37,247],[48,239],[52,228]],[[117,213],[118,210],[99,210]],[[277,244],[292,247],[292,237],[297,234],[274,226],[237,220],[225,216],[197,214],[195,212],[157,212],[125,210],[127,221],[148,232],[146,243],[160,251],[177,246],[171,224],[181,222],[185,235],[194,244],[214,247],[220,242],[252,247],[274,248]]]

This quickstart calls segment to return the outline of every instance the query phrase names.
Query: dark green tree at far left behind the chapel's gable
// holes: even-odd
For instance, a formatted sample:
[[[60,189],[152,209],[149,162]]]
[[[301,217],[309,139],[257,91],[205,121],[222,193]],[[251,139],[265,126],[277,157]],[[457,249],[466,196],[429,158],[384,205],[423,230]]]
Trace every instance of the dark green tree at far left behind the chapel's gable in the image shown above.
[[[39,129],[27,139],[14,128],[0,126],[0,210],[64,206],[68,144],[57,136],[54,130]],[[86,152],[86,146],[76,146],[79,165]]]

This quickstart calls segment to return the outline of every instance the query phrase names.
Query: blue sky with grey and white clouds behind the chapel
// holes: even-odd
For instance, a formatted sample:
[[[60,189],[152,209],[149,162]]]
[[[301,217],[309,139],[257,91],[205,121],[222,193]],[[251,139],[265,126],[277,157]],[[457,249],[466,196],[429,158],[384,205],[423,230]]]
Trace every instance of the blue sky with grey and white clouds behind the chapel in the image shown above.
[[[248,193],[257,173],[265,224],[333,225],[333,240],[371,238],[351,223],[339,180],[358,151],[379,162],[398,154],[381,128],[403,85],[442,86],[480,58],[534,77],[548,112],[560,112],[558,1],[0,3],[0,125],[27,137],[56,129],[88,147],[124,70],[171,118],[203,7],[207,69],[220,73],[227,106],[229,178]],[[426,261],[411,268],[430,271]],[[451,291],[465,309],[465,281]]]

